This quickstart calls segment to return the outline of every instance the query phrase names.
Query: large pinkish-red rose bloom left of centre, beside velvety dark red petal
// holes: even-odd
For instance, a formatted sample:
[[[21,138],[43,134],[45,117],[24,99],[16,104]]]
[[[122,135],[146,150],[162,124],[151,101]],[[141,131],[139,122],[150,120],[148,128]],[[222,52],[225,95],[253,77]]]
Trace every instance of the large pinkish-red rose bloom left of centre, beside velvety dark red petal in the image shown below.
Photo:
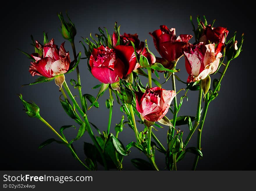
[[[101,83],[115,83],[123,77],[125,65],[115,50],[100,46],[90,56],[91,72]]]

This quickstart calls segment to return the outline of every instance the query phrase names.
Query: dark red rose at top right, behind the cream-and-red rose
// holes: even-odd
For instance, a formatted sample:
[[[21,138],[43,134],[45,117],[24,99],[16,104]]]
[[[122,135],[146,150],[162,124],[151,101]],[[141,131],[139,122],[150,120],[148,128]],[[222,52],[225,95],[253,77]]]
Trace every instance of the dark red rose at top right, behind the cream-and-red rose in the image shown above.
[[[202,24],[202,23],[201,23]],[[203,25],[203,24],[202,24]],[[210,43],[225,43],[225,34],[227,36],[228,30],[223,27],[213,28],[211,25],[204,26],[204,31],[199,39],[199,42],[204,42],[205,44]]]

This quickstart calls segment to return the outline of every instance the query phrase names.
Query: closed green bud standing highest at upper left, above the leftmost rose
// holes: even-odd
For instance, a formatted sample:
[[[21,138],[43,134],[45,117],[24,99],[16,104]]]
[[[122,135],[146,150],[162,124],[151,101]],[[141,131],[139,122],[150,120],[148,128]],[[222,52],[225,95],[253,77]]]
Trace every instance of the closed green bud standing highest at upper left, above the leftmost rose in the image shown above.
[[[62,13],[58,14],[59,19],[61,20],[61,34],[63,36],[63,38],[71,41],[74,40],[75,35],[77,34],[77,29],[75,28],[75,25],[71,22],[70,18],[69,22],[66,22]]]

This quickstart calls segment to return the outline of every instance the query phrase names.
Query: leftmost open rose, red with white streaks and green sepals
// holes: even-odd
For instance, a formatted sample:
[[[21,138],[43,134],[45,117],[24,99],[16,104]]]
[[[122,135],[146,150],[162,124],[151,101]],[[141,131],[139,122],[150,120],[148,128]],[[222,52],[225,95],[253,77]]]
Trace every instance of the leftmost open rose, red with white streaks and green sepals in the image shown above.
[[[39,75],[46,78],[52,78],[59,74],[65,74],[70,66],[69,52],[64,48],[64,42],[58,49],[51,39],[49,43],[42,46],[38,41],[35,41],[35,46],[39,53],[32,53],[31,56],[35,59],[31,62],[29,72],[32,76]],[[41,54],[42,53],[42,54]]]

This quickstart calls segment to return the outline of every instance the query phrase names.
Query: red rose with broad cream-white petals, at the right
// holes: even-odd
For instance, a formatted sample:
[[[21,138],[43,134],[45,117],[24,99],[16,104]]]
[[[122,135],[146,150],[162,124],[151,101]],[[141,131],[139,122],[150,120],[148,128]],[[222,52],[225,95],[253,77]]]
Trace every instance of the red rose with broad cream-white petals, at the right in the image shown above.
[[[222,54],[214,44],[205,45],[203,42],[184,48],[185,66],[189,74],[187,82],[198,81],[216,72]]]

